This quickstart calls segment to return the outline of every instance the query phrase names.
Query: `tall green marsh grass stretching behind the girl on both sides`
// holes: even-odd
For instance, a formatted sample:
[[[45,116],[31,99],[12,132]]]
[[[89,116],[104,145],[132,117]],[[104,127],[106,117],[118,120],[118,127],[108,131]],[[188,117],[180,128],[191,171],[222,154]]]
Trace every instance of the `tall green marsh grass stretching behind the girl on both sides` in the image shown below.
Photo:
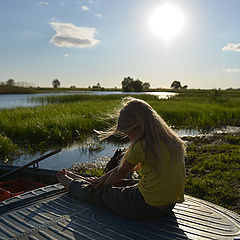
[[[11,146],[29,152],[63,147],[83,139],[93,129],[107,126],[96,116],[119,106],[126,95],[67,95],[46,97],[46,106],[0,110],[0,134]],[[240,126],[238,92],[182,92],[168,100],[138,95],[174,128],[210,130],[226,125]],[[6,142],[6,141],[5,141]],[[7,149],[7,148],[6,148]],[[13,149],[10,147],[9,149]],[[17,148],[16,148],[17,149]],[[16,150],[17,152],[17,150]],[[11,155],[11,157],[10,157]],[[13,158],[12,152],[1,159]]]

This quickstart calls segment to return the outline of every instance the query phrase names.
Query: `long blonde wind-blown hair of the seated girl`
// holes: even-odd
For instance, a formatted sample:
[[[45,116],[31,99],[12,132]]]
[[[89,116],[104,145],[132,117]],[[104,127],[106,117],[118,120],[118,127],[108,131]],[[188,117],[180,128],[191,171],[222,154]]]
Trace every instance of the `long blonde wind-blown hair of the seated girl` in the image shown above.
[[[161,168],[163,143],[171,153],[172,163],[184,161],[185,143],[148,103],[136,98],[124,98],[123,107],[118,114],[115,126],[107,131],[98,132],[100,139],[115,135],[118,131],[126,133],[138,128],[138,135],[129,149],[133,148],[136,142],[144,139],[145,160],[149,162],[154,172],[164,172],[164,169]]]

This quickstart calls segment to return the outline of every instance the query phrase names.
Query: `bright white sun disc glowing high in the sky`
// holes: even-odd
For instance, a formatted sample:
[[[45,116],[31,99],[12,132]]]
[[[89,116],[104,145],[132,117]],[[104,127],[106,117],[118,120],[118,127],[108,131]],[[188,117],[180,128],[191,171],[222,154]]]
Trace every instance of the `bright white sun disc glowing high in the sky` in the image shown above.
[[[177,6],[166,3],[155,9],[150,17],[152,32],[166,41],[179,34],[184,26],[185,18]]]

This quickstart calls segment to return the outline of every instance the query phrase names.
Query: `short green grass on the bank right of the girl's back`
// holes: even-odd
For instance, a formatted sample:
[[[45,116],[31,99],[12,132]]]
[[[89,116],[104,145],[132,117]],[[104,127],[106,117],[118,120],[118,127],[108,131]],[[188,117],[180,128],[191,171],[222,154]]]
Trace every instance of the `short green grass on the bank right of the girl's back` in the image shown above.
[[[185,190],[240,213],[239,137],[223,136],[221,140],[222,145],[192,143],[188,147]]]

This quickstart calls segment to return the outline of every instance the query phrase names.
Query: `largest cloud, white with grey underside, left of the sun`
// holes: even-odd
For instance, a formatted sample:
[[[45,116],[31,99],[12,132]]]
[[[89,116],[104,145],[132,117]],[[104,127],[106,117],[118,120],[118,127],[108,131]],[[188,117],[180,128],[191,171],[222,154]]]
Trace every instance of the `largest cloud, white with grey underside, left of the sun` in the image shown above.
[[[92,47],[100,41],[94,38],[97,34],[95,28],[77,27],[72,23],[50,22],[56,34],[50,39],[50,43],[57,47],[85,48]]]

